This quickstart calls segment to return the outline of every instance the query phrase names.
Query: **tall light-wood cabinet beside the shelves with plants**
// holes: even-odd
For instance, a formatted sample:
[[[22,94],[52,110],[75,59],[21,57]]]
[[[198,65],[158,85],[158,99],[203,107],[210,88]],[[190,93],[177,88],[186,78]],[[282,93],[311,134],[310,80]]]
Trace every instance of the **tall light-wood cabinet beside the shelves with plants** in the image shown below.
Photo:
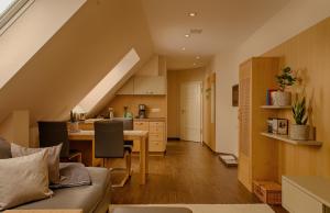
[[[253,180],[277,180],[277,146],[260,133],[268,112],[262,111],[267,89],[276,88],[279,58],[254,57],[240,66],[239,79],[239,180],[252,191]]]

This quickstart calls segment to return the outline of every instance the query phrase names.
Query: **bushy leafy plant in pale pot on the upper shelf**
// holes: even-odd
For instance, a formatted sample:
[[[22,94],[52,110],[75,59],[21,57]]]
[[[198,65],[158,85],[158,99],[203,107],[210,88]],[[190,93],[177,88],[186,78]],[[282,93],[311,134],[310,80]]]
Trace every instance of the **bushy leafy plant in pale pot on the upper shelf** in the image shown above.
[[[292,104],[292,93],[285,91],[286,87],[295,85],[297,78],[293,76],[290,67],[285,67],[280,75],[276,76],[276,80],[279,90],[273,92],[273,104],[274,105],[290,105]]]

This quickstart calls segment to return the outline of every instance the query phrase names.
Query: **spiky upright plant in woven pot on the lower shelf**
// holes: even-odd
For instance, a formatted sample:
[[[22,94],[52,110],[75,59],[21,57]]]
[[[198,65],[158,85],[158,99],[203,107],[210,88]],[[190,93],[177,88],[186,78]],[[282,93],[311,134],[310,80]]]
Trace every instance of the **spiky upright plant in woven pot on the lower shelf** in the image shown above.
[[[308,139],[309,138],[309,126],[307,125],[308,115],[306,114],[306,99],[302,100],[297,98],[293,105],[293,115],[295,124],[290,126],[290,138],[292,139]]]

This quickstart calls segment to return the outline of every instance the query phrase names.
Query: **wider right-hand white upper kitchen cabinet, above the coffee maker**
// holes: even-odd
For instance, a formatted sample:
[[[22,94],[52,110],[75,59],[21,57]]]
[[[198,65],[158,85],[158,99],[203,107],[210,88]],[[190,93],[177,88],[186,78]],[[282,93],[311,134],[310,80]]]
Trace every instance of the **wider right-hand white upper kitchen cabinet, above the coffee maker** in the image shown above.
[[[136,76],[134,94],[166,94],[165,76]]]

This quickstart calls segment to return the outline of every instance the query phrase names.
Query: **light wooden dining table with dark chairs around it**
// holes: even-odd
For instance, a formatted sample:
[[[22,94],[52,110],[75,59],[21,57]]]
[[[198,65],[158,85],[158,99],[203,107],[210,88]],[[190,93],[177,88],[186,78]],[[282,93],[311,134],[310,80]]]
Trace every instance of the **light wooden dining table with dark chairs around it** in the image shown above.
[[[94,130],[80,130],[77,132],[69,132],[68,138],[70,145],[73,143],[74,147],[81,149],[82,159],[87,166],[100,166],[101,159],[95,157],[95,131]],[[140,184],[145,184],[146,175],[148,173],[148,132],[147,131],[123,131],[124,141],[134,141],[140,143]],[[91,143],[91,144],[87,144]],[[79,146],[85,145],[85,146]],[[90,146],[89,146],[90,145]],[[79,148],[80,147],[80,148]],[[89,147],[89,148],[86,148]]]

